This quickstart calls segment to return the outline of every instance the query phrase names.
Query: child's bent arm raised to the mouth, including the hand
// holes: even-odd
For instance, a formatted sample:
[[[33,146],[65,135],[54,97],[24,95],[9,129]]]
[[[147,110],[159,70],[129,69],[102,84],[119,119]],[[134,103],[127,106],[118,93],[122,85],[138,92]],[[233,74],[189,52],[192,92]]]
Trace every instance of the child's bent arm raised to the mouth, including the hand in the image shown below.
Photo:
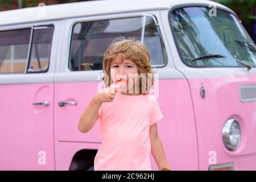
[[[92,130],[99,118],[98,110],[100,109],[101,104],[103,102],[112,102],[114,98],[114,88],[102,89],[100,92],[96,93],[80,117],[78,124],[79,131],[81,133],[87,133]]]

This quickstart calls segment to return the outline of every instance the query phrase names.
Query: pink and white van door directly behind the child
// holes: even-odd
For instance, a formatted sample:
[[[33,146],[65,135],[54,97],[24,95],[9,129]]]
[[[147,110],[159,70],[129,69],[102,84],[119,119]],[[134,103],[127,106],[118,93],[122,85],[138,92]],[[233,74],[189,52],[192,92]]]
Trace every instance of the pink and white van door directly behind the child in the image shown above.
[[[57,168],[67,169],[77,151],[97,150],[100,146],[100,119],[85,134],[78,129],[79,119],[97,93],[97,86],[100,87],[102,56],[106,48],[119,36],[132,36],[143,41],[150,52],[152,67],[159,68],[161,94],[158,101],[164,119],[158,127],[165,143],[167,158],[176,168],[197,169],[196,129],[188,83],[174,68],[170,51],[166,52],[168,47],[165,46],[168,45],[167,42],[163,43],[166,39],[162,39],[164,31],[159,28],[159,23],[160,27],[163,24],[157,22],[157,19],[160,19],[159,10],[74,18],[63,22],[66,27],[61,37],[68,39],[59,42],[61,67],[56,75]],[[177,105],[181,98],[185,100],[184,104]],[[189,154],[184,150],[188,147]],[[63,161],[63,157],[67,160]],[[152,169],[157,170],[152,156],[151,162]]]

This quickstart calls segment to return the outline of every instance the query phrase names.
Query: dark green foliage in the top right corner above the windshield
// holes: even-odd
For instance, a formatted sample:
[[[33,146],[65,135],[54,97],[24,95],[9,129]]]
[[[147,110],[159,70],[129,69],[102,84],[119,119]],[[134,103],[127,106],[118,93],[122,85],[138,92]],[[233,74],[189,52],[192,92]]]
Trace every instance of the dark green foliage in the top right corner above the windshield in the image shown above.
[[[221,0],[220,3],[234,10],[246,24],[250,24],[253,20],[256,20],[256,16],[254,15],[256,0]]]

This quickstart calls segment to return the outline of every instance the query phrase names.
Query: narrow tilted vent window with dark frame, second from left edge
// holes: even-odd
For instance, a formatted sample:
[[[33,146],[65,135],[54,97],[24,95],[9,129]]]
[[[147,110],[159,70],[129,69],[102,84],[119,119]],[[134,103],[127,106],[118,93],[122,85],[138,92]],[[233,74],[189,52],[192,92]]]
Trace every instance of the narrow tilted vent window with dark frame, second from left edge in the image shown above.
[[[46,72],[49,66],[53,26],[33,27],[28,73]]]

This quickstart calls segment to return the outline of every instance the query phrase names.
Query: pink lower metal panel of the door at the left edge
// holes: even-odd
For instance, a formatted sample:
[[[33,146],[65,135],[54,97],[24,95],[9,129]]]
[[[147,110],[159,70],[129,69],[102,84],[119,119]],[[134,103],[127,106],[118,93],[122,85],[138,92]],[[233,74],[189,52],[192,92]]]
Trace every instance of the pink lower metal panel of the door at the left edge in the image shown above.
[[[53,86],[0,85],[0,169],[55,169]],[[32,105],[44,101],[49,106]],[[45,164],[40,157],[45,157]]]

